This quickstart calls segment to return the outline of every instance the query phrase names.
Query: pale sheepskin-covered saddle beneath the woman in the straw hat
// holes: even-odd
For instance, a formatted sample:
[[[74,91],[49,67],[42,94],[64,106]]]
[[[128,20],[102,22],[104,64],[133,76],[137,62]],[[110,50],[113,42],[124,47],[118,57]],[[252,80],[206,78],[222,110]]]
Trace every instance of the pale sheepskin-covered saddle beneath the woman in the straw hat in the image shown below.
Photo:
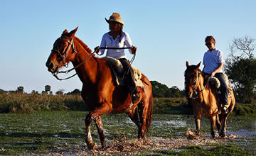
[[[125,85],[124,80],[122,79],[122,76],[124,74],[124,68],[122,67],[122,64],[119,60],[115,59],[114,57],[103,57],[104,59],[107,60],[110,69],[112,71],[113,77],[114,77],[114,82],[117,85]],[[141,87],[144,89],[144,84],[142,83],[142,73],[137,69],[137,67],[134,67],[133,65],[131,66],[133,69],[134,74],[134,83],[136,84],[137,87]]]

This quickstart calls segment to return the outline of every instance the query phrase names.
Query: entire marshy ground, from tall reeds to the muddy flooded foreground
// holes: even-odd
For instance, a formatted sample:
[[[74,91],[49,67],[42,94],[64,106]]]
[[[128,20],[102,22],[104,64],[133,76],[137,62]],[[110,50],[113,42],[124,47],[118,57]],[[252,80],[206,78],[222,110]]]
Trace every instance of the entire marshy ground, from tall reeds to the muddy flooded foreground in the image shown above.
[[[0,94],[0,155],[255,155],[255,104],[237,104],[228,118],[228,138],[210,138],[208,118],[202,135],[194,130],[193,111],[186,98],[154,98],[154,116],[147,140],[137,140],[137,126],[125,114],[102,116],[107,149],[89,151],[85,145],[87,108],[80,95]],[[189,116],[189,118],[188,118]],[[100,146],[95,124],[92,137]]]

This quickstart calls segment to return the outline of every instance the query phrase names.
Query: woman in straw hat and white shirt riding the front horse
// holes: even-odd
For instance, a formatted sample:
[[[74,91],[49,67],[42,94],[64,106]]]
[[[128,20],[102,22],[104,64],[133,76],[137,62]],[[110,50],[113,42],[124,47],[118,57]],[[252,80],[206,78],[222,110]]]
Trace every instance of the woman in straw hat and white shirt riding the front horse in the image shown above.
[[[127,46],[129,52],[131,54],[135,54],[137,48],[132,45],[132,40],[129,37],[129,34],[124,32],[123,26],[124,22],[119,13],[112,13],[110,19],[105,18],[107,23],[109,23],[110,32],[105,33],[102,37],[102,41],[100,44],[101,48],[124,48]],[[100,49],[99,46],[95,48],[97,55],[103,55],[105,49]],[[134,75],[132,67],[129,67],[129,61],[125,58],[124,49],[107,49],[107,55],[110,57],[114,57],[119,60],[124,67],[124,71],[126,71],[126,75],[124,77],[124,82],[127,84],[129,89],[129,93],[132,97],[132,102],[136,103],[139,100],[139,91],[134,83]]]

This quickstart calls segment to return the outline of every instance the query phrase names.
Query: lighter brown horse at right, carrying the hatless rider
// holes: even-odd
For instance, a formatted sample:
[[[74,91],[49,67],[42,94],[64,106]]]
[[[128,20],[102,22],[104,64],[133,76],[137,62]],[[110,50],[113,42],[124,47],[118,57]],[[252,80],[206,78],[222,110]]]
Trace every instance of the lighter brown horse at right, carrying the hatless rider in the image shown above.
[[[233,90],[230,89],[230,96],[228,97],[228,113],[220,113],[220,98],[218,90],[210,87],[210,84],[205,79],[201,72],[200,63],[198,65],[189,65],[186,62],[185,71],[185,89],[188,103],[193,106],[194,118],[196,121],[196,135],[200,133],[200,121],[202,116],[210,119],[210,134],[215,138],[215,124],[218,128],[220,136],[225,137],[227,118],[233,111],[235,106],[235,96]],[[219,120],[220,119],[220,120]]]

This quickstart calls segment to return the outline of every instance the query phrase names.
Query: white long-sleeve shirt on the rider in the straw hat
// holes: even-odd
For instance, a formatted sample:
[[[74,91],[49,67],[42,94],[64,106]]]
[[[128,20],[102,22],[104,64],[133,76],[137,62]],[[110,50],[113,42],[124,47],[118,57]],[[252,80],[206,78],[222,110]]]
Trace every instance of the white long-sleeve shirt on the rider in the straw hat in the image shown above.
[[[128,48],[132,47],[132,40],[129,37],[128,33],[123,31],[120,43],[119,43],[119,38],[120,38],[120,35],[117,35],[117,38],[115,38],[114,40],[109,33],[105,33],[102,36],[100,47],[107,47],[107,48],[124,48],[124,46]],[[100,49],[100,52],[98,54],[103,55],[104,52],[105,52],[105,49]],[[132,54],[131,49],[129,49],[129,52]],[[106,56],[114,57],[116,59],[125,58],[124,49],[108,49]]]

